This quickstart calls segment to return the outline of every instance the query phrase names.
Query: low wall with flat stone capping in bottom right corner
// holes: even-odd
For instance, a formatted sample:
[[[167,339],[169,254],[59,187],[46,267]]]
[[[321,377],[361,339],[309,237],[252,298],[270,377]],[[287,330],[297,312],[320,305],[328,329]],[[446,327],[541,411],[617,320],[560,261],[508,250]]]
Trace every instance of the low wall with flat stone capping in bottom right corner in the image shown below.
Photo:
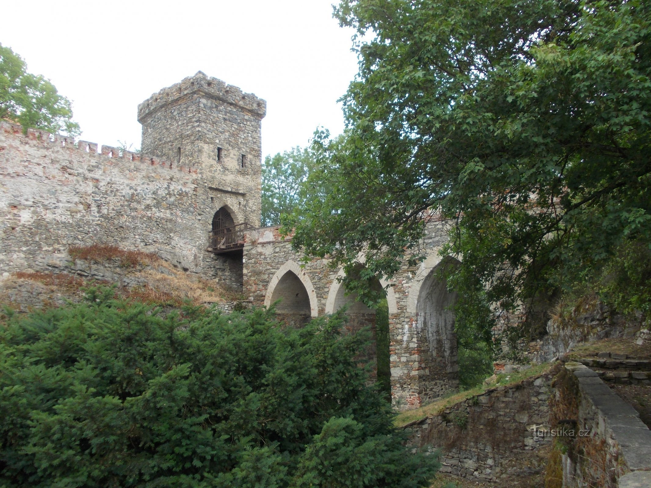
[[[650,487],[651,431],[639,413],[579,362],[566,363],[555,384],[550,419],[562,487]]]

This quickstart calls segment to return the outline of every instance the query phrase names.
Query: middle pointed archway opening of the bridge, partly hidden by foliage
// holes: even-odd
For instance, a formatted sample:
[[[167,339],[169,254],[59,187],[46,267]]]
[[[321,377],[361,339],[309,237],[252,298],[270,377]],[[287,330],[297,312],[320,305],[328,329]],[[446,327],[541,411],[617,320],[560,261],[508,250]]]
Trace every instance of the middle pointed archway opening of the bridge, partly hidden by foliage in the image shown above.
[[[357,264],[354,273],[364,269],[364,265]],[[386,291],[383,290],[380,280],[372,278],[370,284],[373,291],[380,293],[382,299],[373,308],[367,306],[357,293],[347,293],[346,287],[339,286],[335,295],[333,311],[347,306],[348,316],[347,329],[350,332],[357,332],[368,327],[371,332],[371,341],[367,351],[363,353],[362,359],[374,364],[372,372],[380,384],[380,388],[391,399],[391,364],[389,362],[389,306],[387,304]]]

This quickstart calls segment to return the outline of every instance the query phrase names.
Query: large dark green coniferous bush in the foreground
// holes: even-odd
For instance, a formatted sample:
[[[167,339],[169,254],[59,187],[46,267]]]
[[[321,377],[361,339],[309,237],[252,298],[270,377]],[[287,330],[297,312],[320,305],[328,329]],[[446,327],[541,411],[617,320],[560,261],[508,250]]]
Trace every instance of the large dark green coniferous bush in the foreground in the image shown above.
[[[417,487],[342,316],[89,301],[0,330],[0,487]]]

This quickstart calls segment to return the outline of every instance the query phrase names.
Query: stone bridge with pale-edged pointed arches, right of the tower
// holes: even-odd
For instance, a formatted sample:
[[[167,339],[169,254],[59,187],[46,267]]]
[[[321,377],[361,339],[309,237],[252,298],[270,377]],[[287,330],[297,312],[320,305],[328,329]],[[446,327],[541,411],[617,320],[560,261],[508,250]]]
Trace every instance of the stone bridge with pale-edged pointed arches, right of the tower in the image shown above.
[[[446,240],[443,221],[428,224],[423,242],[426,260],[415,267],[405,264],[388,282],[380,280],[389,305],[391,398],[396,409],[419,407],[458,386],[451,310],[456,293],[447,290],[437,273],[441,265],[454,264],[452,258],[439,256]],[[255,305],[268,306],[281,299],[277,313],[293,325],[348,304],[350,329],[364,325],[374,329],[375,311],[346,294],[337,280],[342,269],[331,269],[326,259],[302,267],[299,262],[301,256],[293,251],[291,239],[281,236],[278,227],[248,230],[243,247],[244,294]]]

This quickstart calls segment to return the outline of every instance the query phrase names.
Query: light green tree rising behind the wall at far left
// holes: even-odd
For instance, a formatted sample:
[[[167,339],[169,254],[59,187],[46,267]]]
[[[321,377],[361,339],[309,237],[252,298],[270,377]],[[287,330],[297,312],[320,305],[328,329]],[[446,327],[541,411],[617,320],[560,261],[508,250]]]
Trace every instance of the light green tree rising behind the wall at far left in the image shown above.
[[[27,73],[27,64],[10,47],[0,44],[0,119],[50,133],[76,137],[70,100],[42,75]]]

